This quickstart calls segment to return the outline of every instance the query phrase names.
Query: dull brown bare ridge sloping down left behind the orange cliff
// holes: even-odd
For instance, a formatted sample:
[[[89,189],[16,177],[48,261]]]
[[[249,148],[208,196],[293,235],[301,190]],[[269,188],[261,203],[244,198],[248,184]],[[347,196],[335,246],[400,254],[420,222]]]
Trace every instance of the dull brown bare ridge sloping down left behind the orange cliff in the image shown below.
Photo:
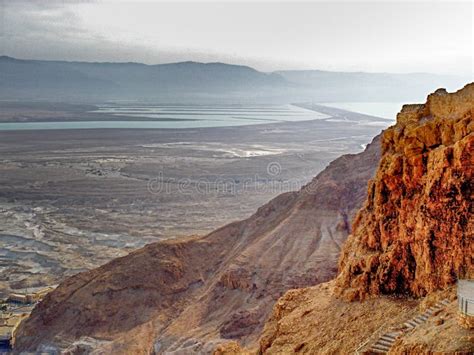
[[[247,220],[71,277],[20,326],[17,349],[189,353],[226,339],[252,344],[286,290],[335,276],[379,158],[376,138]]]

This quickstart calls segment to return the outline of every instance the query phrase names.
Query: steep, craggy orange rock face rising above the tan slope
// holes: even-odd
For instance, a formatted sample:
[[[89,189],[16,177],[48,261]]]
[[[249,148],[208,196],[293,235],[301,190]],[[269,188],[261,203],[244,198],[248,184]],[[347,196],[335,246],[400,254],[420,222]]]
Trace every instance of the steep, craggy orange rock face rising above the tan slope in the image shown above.
[[[423,296],[474,276],[474,84],[405,105],[382,136],[336,292]]]

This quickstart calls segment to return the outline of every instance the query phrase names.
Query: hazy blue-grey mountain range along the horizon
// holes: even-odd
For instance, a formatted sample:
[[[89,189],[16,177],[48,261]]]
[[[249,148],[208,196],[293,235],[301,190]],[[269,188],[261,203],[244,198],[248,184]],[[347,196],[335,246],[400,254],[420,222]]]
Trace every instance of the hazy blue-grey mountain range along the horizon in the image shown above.
[[[101,102],[417,101],[466,78],[435,74],[287,70],[225,63],[90,63],[0,57],[0,100]]]

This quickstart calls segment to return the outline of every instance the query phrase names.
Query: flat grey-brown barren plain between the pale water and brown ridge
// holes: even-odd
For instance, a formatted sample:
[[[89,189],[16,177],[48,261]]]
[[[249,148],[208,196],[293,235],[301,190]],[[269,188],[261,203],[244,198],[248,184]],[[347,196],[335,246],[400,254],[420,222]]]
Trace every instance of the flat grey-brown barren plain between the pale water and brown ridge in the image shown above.
[[[0,292],[245,218],[390,122],[321,111],[239,127],[1,131]]]

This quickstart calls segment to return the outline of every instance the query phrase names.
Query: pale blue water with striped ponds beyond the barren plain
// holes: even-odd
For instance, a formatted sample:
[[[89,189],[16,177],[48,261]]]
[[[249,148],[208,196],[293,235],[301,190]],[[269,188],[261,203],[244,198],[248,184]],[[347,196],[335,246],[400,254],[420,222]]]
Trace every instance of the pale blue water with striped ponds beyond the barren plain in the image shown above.
[[[200,128],[324,119],[329,116],[293,105],[283,106],[119,106],[104,105],[97,113],[107,121],[0,123],[0,130],[94,128]],[[120,120],[115,121],[117,117]],[[127,120],[127,117],[131,120]],[[140,120],[140,118],[148,120]],[[133,119],[133,120],[132,120]],[[150,121],[149,119],[153,119]]]

